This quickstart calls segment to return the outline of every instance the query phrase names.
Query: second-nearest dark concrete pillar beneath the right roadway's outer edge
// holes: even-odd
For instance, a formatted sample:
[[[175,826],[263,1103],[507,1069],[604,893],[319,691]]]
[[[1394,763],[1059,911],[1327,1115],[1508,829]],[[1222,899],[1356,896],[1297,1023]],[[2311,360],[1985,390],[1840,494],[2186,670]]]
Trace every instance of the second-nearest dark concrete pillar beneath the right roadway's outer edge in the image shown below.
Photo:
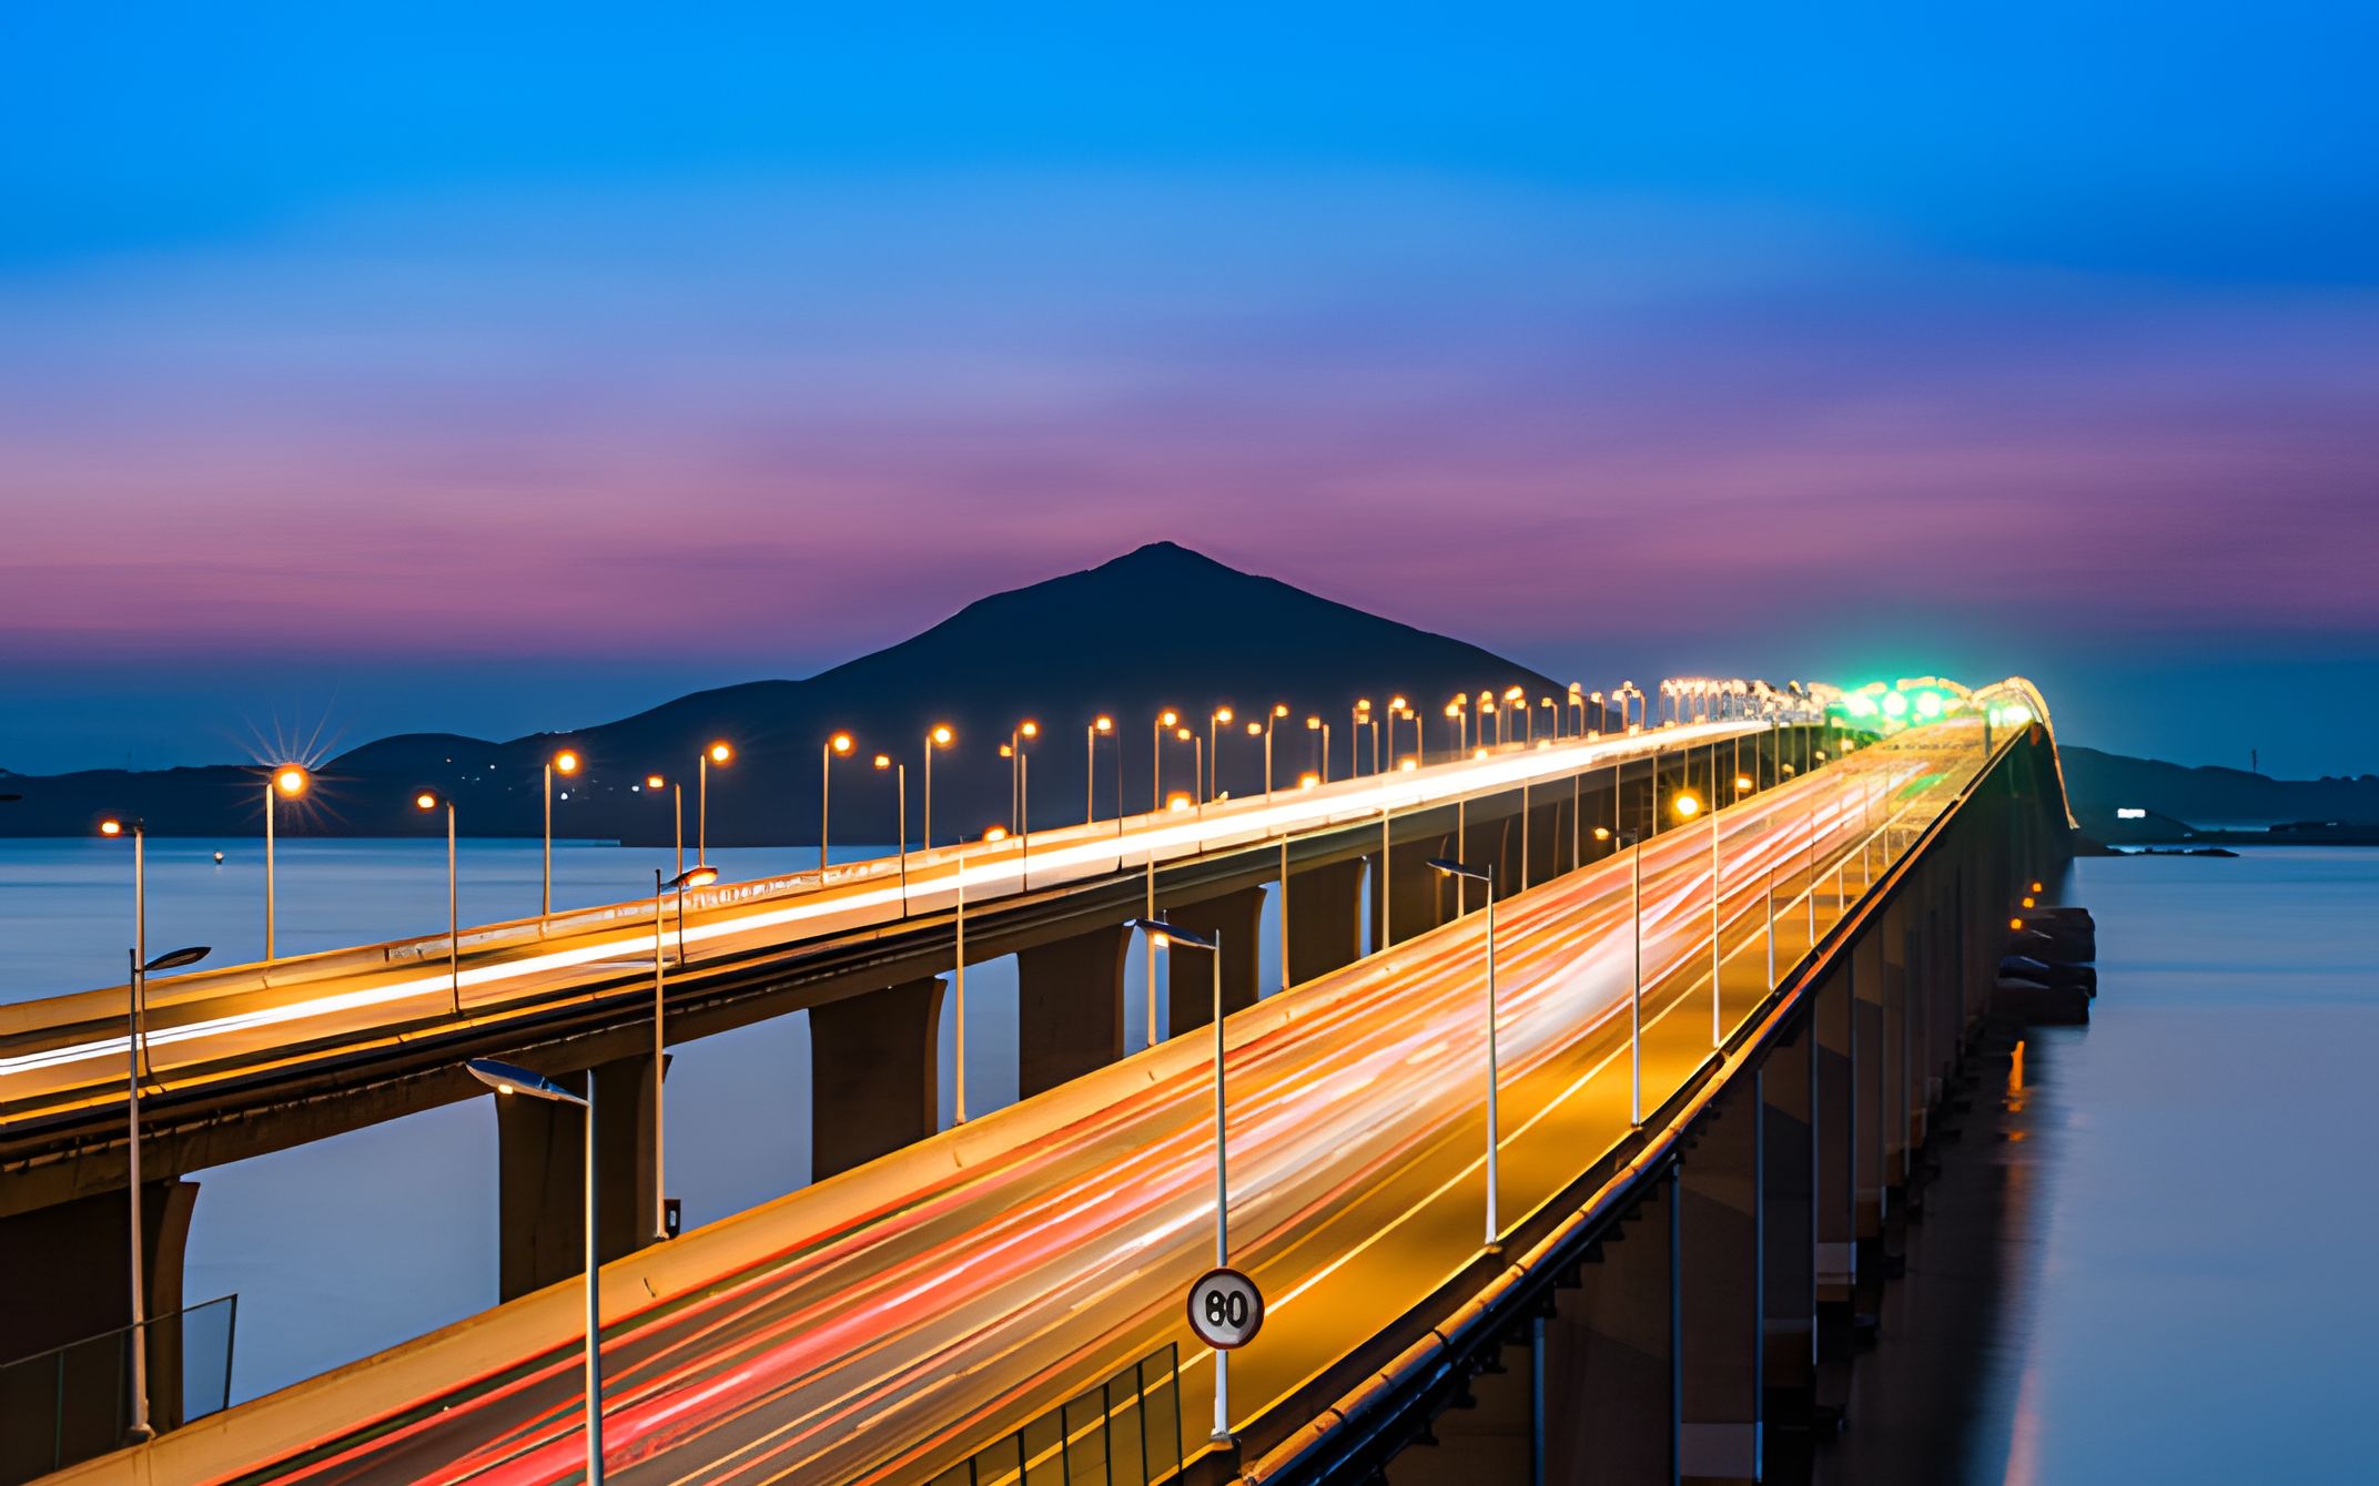
[[[1675,1481],[1677,1177],[1601,1239],[1544,1322],[1544,1481]]]

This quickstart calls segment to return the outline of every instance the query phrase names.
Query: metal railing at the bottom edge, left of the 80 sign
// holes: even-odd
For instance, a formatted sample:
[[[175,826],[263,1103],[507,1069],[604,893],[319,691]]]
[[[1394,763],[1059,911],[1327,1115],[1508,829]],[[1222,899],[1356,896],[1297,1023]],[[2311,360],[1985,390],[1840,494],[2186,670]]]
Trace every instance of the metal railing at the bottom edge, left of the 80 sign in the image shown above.
[[[928,1486],[1156,1486],[1180,1469],[1180,1348],[1168,1341]]]

